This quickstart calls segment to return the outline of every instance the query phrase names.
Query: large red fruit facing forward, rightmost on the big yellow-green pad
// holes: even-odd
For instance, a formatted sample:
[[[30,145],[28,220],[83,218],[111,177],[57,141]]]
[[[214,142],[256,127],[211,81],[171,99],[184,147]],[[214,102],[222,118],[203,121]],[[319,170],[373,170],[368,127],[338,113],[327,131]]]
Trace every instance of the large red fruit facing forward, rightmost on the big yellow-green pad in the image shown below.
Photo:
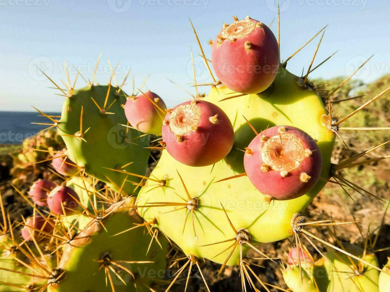
[[[307,133],[291,126],[275,126],[257,135],[246,148],[244,167],[251,183],[267,201],[289,200],[317,183],[322,156]]]

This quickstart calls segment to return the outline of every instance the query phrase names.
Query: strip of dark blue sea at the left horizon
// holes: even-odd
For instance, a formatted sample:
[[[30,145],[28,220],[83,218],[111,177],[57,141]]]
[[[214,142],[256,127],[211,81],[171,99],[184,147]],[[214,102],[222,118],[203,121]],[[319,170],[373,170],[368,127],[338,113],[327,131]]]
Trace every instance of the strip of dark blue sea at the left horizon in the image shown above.
[[[59,116],[61,113],[45,113]],[[0,111],[0,144],[20,144],[49,126],[32,123],[52,123],[48,118],[39,116],[38,112]]]

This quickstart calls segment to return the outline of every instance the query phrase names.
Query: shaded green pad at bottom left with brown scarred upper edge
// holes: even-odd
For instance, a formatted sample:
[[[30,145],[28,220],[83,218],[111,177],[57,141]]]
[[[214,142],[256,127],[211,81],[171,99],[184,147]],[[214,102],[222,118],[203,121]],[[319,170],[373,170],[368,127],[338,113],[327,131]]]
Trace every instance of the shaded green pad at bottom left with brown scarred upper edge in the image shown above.
[[[162,247],[152,241],[151,235],[144,227],[138,227],[115,236],[135,224],[142,223],[142,218],[135,214],[130,206],[133,198],[128,198],[112,205],[107,213],[112,213],[102,223],[92,223],[80,232],[64,249],[57,271],[64,273],[57,281],[51,283],[49,291],[105,291],[111,290],[111,281],[115,291],[149,291],[153,283],[163,280],[166,270],[167,239],[158,237]],[[106,230],[104,229],[106,228]],[[105,275],[106,260],[110,275]],[[128,261],[135,261],[128,263]],[[151,263],[137,263],[147,261]],[[131,274],[116,266],[124,266]],[[103,266],[102,266],[103,265]],[[108,267],[109,266],[109,267]],[[115,275],[111,270],[115,269]],[[107,287],[106,287],[107,279]]]

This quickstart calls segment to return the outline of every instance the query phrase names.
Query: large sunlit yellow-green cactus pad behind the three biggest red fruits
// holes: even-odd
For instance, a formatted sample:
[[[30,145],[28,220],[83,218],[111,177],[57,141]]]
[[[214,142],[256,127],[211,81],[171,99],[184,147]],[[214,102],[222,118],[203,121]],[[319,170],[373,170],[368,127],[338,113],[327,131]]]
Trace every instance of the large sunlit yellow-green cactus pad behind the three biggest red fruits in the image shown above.
[[[310,134],[317,139],[323,156],[321,176],[330,177],[330,157],[335,136],[321,124],[321,116],[327,111],[316,91],[301,88],[298,81],[299,77],[280,68],[270,88],[257,95],[245,95],[220,101],[237,93],[225,87],[213,87],[209,95],[204,98],[221,107],[234,127],[234,146],[227,156],[232,169],[224,160],[214,166],[189,167],[174,160],[167,151],[163,151],[151,176],[157,179],[165,177],[166,185],[156,187],[154,181],[147,181],[140,191],[137,205],[153,205],[154,202],[183,203],[183,199],[187,201],[188,197],[177,174],[179,172],[190,197],[199,199],[200,207],[194,211],[193,219],[196,237],[191,218],[188,218],[183,232],[187,209],[173,211],[175,208],[180,209],[181,206],[139,208],[140,215],[146,221],[156,218],[158,221],[156,226],[177,243],[186,255],[193,254],[219,263],[223,263],[230,250],[215,256],[234,242],[203,245],[226,241],[235,236],[222,206],[226,209],[236,229],[249,230],[253,243],[268,243],[293,235],[291,231],[293,214],[305,210],[323,188],[324,181],[320,180],[310,192],[302,197],[288,201],[274,200],[270,204],[264,200],[264,195],[254,188],[246,176],[222,182],[216,181],[244,172],[242,150],[255,137],[255,133],[246,123],[245,118],[250,121],[257,132],[274,125],[292,125]],[[183,199],[180,199],[177,194]],[[246,253],[247,246],[243,247]],[[238,263],[237,248],[227,264],[236,265]]]

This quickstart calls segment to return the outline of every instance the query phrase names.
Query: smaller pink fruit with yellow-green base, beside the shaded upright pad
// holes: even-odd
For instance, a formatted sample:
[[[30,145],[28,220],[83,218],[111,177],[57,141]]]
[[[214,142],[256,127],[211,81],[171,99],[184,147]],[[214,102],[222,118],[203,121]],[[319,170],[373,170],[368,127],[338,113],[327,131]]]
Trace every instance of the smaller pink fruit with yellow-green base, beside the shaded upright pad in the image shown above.
[[[162,117],[156,105],[163,110],[167,106],[165,106],[164,101],[156,93],[146,91],[145,95],[129,97],[124,105],[124,113],[130,125],[138,131],[160,135]]]

